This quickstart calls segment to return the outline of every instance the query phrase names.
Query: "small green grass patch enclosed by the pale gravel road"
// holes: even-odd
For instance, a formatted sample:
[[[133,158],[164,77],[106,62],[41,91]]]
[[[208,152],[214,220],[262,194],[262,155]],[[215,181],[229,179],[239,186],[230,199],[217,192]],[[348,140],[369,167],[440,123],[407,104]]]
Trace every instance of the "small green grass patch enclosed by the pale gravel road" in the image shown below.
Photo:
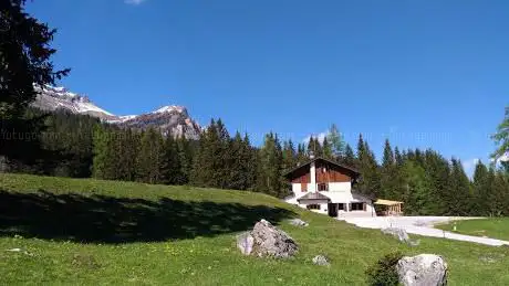
[[[454,225],[453,222],[437,225],[437,227],[453,232]],[[457,221],[455,232],[509,241],[509,218]]]

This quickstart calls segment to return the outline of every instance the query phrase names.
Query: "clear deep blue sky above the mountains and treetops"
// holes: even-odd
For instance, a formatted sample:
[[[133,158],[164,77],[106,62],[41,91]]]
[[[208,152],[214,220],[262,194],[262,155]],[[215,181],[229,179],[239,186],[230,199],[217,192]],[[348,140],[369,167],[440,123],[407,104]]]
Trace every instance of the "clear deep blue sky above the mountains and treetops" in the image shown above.
[[[509,1],[35,0],[62,84],[118,115],[178,104],[199,123],[294,141],[335,123],[469,165],[509,104]],[[468,167],[468,166],[467,166]],[[468,168],[467,168],[468,169]]]

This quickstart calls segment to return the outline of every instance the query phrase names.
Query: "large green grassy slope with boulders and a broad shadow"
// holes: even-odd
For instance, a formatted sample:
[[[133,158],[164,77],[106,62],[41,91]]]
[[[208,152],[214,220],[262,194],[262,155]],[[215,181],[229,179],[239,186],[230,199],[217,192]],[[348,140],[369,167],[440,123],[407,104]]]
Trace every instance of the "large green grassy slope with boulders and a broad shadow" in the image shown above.
[[[408,247],[258,193],[19,174],[0,174],[0,190],[1,285],[363,285],[367,265],[395,250],[444,255],[450,285],[509,285],[503,247],[423,237]],[[289,225],[292,215],[310,226]],[[294,259],[239,254],[236,233],[261,218],[299,243]],[[332,267],[312,265],[316,254]]]

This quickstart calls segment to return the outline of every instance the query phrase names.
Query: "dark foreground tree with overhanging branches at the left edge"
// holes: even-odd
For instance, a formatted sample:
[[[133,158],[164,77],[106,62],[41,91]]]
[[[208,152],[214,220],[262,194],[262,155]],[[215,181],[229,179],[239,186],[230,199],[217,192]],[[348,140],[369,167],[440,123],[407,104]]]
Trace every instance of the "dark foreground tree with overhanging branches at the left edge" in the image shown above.
[[[25,0],[0,1],[0,157],[20,159],[38,146],[40,118],[27,118],[34,85],[54,84],[70,70],[54,71],[50,46],[55,30],[24,11]]]

